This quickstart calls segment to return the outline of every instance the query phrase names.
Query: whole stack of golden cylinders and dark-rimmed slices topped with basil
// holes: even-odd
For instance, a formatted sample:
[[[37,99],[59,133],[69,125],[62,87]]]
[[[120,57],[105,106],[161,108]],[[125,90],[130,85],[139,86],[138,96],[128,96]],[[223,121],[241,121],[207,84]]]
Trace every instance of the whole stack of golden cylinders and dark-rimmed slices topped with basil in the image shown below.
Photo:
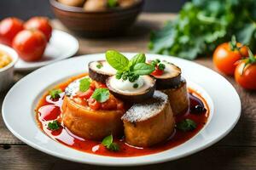
[[[62,105],[65,127],[92,140],[125,133],[126,143],[140,147],[168,139],[174,115],[189,107],[180,68],[160,59],[147,63],[144,54],[129,60],[108,51],[106,59],[90,62],[89,76],[67,86]]]

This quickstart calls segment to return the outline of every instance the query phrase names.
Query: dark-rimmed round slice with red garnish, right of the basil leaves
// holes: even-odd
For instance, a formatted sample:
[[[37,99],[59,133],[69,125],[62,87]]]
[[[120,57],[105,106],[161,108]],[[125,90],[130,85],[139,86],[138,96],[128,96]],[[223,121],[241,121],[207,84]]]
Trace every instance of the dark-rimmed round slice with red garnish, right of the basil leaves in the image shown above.
[[[181,69],[172,63],[162,61],[166,69],[161,76],[154,76],[156,79],[156,89],[175,88],[180,84]]]

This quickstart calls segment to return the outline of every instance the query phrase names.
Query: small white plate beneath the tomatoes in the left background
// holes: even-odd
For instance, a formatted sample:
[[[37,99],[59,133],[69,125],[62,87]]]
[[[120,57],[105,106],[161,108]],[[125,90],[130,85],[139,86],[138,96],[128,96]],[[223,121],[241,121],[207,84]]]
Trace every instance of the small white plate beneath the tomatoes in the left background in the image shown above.
[[[19,59],[15,64],[15,71],[32,71],[38,69],[55,61],[72,57],[78,50],[79,42],[75,37],[67,32],[54,30],[45,48],[43,58],[34,62],[26,62]]]

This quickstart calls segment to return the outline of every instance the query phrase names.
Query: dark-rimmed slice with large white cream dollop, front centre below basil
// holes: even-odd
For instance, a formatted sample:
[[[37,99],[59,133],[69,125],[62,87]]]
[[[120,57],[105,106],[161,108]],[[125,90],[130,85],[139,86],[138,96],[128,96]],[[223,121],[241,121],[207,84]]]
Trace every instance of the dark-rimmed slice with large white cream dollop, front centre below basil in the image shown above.
[[[130,103],[139,103],[145,99],[151,98],[154,94],[155,80],[153,77],[141,76],[136,82],[128,82],[129,80],[120,81],[123,80],[118,80],[115,76],[108,77],[106,81],[109,91],[118,99]],[[131,88],[136,83],[140,83],[139,87]],[[121,85],[122,88],[120,88],[119,85]]]

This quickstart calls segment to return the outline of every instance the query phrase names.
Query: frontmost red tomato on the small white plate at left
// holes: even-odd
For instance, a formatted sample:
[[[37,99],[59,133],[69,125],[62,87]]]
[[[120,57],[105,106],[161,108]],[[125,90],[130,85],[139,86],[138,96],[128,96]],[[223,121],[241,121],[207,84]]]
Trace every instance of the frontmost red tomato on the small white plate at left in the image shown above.
[[[41,31],[20,31],[13,41],[13,48],[26,61],[35,61],[42,58],[46,48],[46,38]]]

